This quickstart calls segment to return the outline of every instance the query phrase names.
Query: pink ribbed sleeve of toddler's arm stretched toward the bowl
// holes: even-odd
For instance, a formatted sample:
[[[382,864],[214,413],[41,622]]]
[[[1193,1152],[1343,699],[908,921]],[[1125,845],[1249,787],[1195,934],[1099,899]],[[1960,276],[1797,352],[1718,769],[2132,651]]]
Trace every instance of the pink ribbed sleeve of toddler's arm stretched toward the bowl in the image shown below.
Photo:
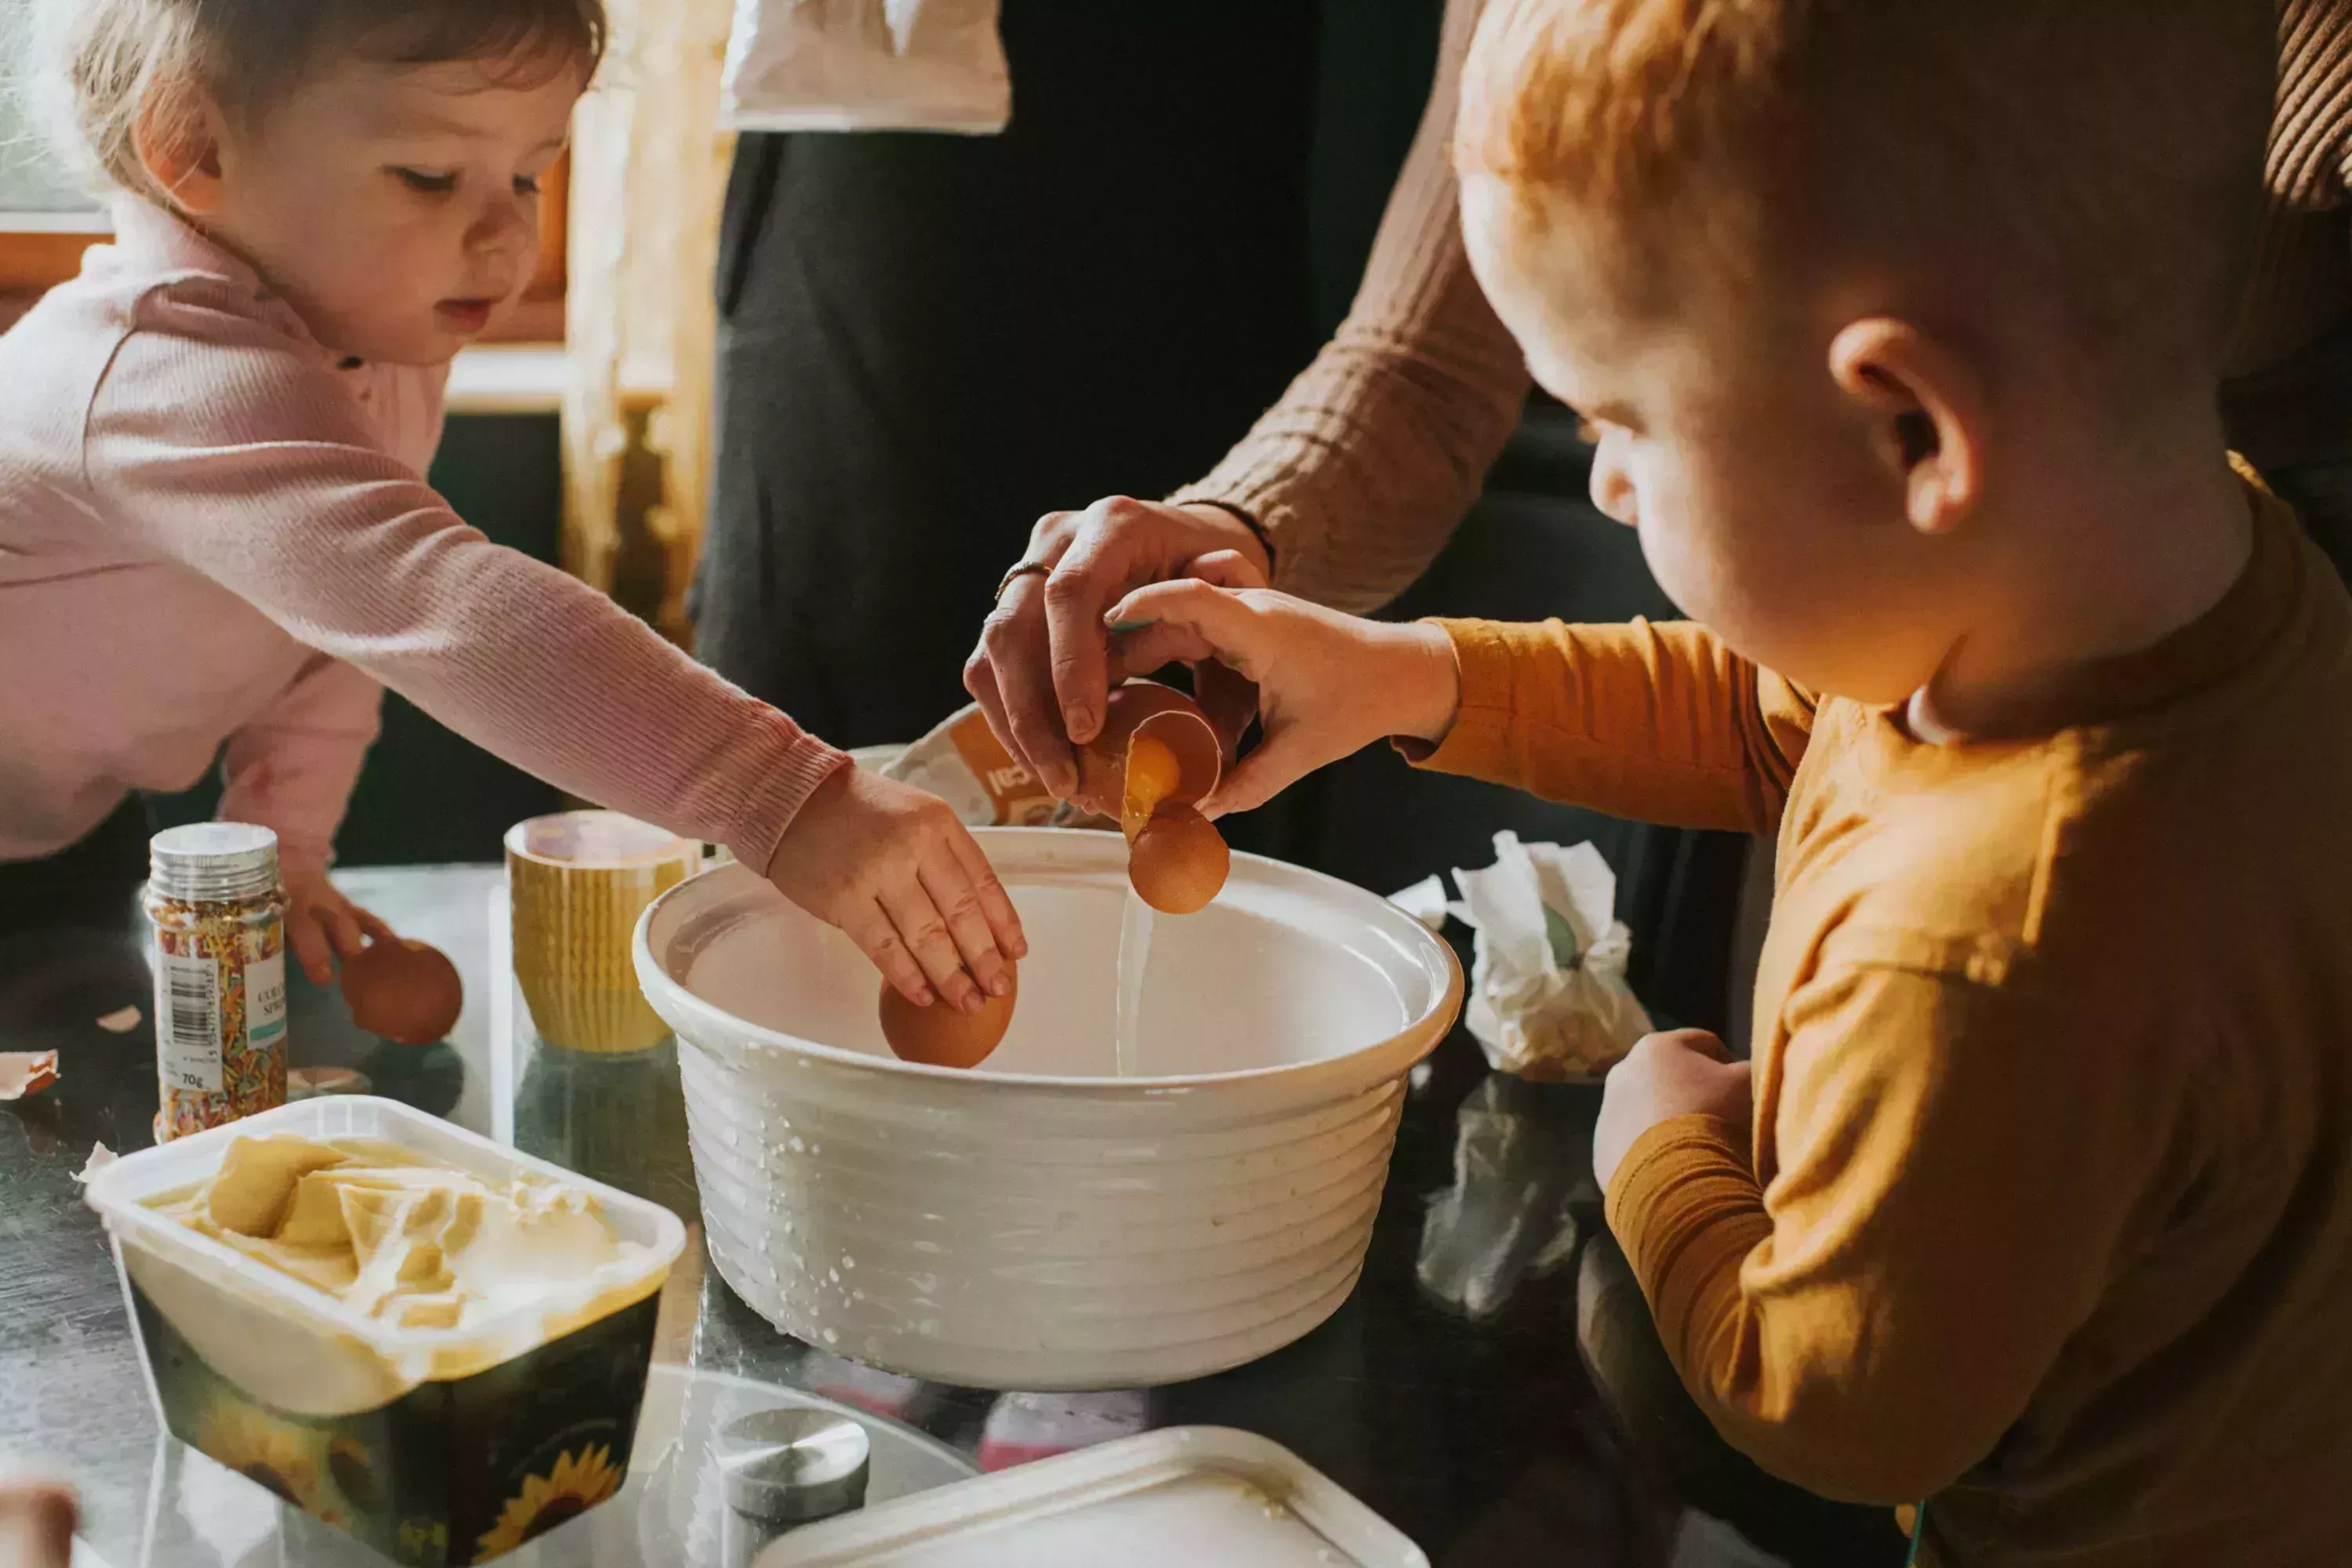
[[[750,865],[847,764],[604,595],[459,522],[228,282],[141,296],[92,402],[85,473],[141,548],[299,642],[560,790]],[[266,776],[315,778],[301,795],[322,797],[339,745],[273,731]]]

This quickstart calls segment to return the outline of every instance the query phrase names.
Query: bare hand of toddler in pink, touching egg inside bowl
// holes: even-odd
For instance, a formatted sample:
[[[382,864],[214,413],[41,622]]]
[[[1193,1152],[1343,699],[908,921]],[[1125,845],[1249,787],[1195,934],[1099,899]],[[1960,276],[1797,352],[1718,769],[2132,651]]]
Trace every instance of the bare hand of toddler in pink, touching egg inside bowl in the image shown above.
[[[1014,900],[948,802],[863,769],[816,785],[767,879],[840,926],[915,1006],[931,1006],[936,985],[978,1011],[981,987],[1011,990],[1004,957],[1028,954]]]

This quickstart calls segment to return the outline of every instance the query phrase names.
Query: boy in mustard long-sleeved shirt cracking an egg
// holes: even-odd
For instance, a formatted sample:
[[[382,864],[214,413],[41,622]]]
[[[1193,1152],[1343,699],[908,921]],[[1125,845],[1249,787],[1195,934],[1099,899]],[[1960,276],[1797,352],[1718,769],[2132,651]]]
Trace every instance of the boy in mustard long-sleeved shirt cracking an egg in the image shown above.
[[[1258,682],[1211,811],[1399,736],[1778,832],[1752,1063],[1642,1041],[1595,1166],[1717,1429],[1929,1563],[2345,1561],[2352,602],[2216,409],[2270,26],[1498,0],[1470,259],[1693,623],[1110,616]]]

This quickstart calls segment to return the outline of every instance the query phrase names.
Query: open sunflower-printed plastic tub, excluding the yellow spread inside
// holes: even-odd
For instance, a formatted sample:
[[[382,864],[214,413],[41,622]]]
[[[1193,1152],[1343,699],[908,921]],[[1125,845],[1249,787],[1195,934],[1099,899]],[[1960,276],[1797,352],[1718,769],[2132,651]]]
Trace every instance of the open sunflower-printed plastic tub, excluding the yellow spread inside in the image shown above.
[[[626,1269],[468,1328],[393,1328],[160,1215],[235,1138],[393,1143],[492,1182],[588,1192]],[[287,1505],[416,1568],[487,1563],[621,1490],[661,1284],[684,1227],[654,1204],[393,1100],[303,1100],[96,1171],[155,1410]]]

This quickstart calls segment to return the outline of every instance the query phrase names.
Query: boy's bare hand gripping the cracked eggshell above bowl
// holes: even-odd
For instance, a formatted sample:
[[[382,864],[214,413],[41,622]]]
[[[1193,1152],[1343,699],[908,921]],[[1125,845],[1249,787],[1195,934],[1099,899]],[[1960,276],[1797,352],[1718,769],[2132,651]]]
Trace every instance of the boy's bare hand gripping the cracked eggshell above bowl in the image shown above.
[[[1214,576],[1214,562],[1202,562]],[[1152,583],[1108,616],[1129,670],[1214,658],[1258,686],[1265,741],[1249,752],[1204,816],[1263,806],[1315,769],[1374,741],[1442,741],[1461,708],[1454,642],[1435,625],[1359,621],[1268,588],[1209,581]]]

